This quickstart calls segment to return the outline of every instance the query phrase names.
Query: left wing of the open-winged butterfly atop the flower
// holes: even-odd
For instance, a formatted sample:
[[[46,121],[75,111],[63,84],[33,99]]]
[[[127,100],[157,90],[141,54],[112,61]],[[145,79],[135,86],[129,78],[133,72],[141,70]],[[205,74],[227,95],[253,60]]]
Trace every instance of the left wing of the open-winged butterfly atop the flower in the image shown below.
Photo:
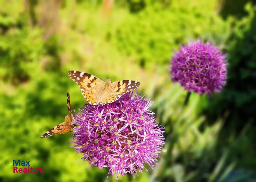
[[[84,99],[97,105],[97,94],[104,83],[100,78],[80,71],[68,71],[68,76],[80,87]]]

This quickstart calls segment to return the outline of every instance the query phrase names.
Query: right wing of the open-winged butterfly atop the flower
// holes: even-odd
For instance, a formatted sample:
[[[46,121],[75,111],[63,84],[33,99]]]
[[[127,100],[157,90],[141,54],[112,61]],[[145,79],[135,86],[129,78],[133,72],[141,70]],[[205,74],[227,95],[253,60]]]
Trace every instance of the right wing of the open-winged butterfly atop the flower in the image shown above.
[[[111,103],[119,99],[125,93],[135,90],[140,86],[140,82],[133,80],[122,80],[118,82],[113,82],[110,85],[110,92],[107,94],[107,97],[102,99],[100,104],[104,105]]]

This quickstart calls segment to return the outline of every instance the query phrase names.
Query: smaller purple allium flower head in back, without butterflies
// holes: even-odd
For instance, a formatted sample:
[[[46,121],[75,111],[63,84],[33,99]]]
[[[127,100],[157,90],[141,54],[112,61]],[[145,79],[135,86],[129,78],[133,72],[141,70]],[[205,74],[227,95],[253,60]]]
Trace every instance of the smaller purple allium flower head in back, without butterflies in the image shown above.
[[[219,92],[226,83],[225,54],[211,43],[192,42],[180,47],[171,60],[172,81],[198,94]]]

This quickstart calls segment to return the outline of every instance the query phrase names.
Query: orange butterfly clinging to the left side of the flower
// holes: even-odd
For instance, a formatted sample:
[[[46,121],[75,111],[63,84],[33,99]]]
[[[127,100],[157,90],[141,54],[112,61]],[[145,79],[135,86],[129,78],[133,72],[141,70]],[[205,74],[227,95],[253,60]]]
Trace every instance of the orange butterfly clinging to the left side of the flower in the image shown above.
[[[74,122],[72,120],[72,111],[70,106],[69,93],[67,93],[67,103],[68,103],[68,115],[65,116],[64,122],[58,124],[57,126],[54,126],[51,130],[44,133],[43,136],[41,136],[41,138],[51,137],[52,135],[56,135],[56,134],[67,133],[73,128]]]

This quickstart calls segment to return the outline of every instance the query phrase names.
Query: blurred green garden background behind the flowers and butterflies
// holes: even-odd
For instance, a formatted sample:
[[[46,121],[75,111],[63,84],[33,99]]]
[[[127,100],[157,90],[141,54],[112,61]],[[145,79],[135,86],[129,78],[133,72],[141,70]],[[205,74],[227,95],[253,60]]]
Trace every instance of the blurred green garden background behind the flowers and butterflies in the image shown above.
[[[165,146],[154,170],[119,181],[256,181],[256,7],[246,0],[0,0],[0,181],[116,181],[76,154],[72,133],[40,136],[85,104],[68,70],[141,82]],[[219,94],[170,81],[173,51],[191,40],[227,53]],[[44,173],[13,173],[12,160]]]

